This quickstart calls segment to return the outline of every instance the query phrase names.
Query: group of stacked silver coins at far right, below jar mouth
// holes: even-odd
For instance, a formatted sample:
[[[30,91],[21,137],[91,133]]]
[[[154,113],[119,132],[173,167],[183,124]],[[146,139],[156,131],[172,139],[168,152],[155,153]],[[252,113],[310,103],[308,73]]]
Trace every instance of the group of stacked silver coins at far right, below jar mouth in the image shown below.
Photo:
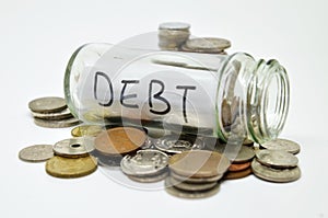
[[[256,176],[276,183],[293,182],[301,177],[297,167],[300,146],[286,139],[277,139],[261,145],[262,150],[256,152],[251,169]]]

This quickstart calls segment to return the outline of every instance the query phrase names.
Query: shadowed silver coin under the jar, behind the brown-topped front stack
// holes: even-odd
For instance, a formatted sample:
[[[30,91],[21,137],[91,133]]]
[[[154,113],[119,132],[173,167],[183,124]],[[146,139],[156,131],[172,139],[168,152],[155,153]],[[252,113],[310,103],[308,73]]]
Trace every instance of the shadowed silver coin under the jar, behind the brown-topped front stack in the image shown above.
[[[181,153],[188,150],[200,150],[204,148],[204,142],[194,136],[167,135],[154,140],[156,149],[168,153]]]

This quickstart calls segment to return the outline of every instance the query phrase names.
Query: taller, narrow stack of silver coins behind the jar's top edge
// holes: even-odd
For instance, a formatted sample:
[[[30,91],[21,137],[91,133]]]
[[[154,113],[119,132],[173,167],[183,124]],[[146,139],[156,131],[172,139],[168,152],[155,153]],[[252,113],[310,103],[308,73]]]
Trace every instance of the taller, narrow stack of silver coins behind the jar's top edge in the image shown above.
[[[159,26],[159,46],[163,50],[179,50],[189,38],[190,25],[180,22],[162,23]]]

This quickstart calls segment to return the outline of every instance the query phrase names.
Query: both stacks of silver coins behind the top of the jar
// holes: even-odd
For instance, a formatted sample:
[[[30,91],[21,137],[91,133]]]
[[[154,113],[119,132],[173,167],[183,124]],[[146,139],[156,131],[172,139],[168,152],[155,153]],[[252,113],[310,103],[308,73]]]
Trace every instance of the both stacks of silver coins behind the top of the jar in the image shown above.
[[[231,42],[218,37],[190,37],[190,24],[179,22],[162,23],[159,26],[159,46],[163,50],[180,50],[226,55]]]

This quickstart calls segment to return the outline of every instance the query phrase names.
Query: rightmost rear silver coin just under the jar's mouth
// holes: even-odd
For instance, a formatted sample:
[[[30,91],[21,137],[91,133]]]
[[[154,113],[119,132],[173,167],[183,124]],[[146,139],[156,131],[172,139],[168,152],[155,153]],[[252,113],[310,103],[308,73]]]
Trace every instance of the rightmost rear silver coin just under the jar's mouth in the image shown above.
[[[276,140],[261,144],[260,146],[269,150],[284,150],[294,154],[298,153],[301,150],[298,144],[288,139],[276,139]]]

